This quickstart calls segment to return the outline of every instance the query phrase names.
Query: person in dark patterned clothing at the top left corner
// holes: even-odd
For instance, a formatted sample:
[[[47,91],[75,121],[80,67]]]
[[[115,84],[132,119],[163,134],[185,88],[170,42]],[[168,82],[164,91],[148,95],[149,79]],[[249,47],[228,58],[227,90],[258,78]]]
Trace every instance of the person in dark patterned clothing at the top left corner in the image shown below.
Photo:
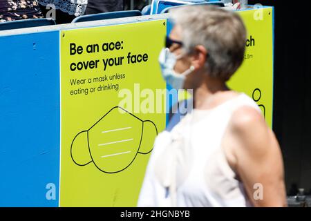
[[[43,17],[37,0],[0,0],[0,22]]]

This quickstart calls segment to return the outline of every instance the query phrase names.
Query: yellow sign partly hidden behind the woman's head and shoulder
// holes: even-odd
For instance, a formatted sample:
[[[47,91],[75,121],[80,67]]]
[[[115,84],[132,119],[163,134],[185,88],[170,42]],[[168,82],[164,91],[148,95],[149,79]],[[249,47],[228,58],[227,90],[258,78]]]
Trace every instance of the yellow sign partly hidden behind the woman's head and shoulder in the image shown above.
[[[273,10],[239,12],[247,28],[244,62],[229,87],[252,97],[272,127],[273,106]]]

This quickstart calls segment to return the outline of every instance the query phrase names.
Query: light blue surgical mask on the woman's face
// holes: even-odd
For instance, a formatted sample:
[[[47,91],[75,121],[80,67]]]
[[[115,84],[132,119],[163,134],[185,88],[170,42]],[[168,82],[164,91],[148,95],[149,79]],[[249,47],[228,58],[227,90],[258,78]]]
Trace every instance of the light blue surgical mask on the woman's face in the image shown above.
[[[167,81],[167,84],[170,84],[175,89],[184,88],[186,76],[194,71],[194,66],[191,66],[184,73],[176,73],[174,67],[176,61],[180,58],[182,58],[182,55],[177,57],[169,51],[169,48],[163,48],[159,56],[162,77]]]

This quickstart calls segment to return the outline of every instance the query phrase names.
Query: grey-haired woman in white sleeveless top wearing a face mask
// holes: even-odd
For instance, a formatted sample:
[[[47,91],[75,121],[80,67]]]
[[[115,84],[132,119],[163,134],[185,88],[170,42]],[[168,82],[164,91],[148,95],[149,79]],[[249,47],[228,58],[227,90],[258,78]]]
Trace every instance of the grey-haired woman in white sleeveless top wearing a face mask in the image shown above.
[[[194,110],[156,138],[138,206],[286,206],[276,137],[257,104],[226,86],[243,62],[243,21],[211,6],[171,18],[162,76],[193,89]]]

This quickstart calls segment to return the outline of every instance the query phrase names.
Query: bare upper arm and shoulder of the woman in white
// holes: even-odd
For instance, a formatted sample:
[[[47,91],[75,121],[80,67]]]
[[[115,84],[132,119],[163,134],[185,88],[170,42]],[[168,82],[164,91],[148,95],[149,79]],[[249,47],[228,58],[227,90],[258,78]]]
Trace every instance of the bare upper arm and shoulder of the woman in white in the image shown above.
[[[254,206],[286,206],[281,150],[262,115],[241,108],[232,117],[229,133],[234,170]]]

